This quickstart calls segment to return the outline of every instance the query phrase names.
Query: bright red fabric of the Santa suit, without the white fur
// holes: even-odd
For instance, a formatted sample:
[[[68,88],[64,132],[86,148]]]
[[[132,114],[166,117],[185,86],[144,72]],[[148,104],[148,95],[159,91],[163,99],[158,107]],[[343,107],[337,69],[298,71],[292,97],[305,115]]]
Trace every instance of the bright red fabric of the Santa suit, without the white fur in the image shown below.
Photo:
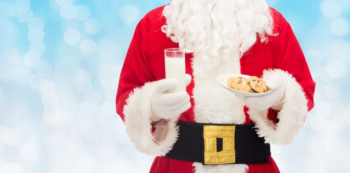
[[[134,37],[130,43],[125,62],[120,74],[117,90],[117,114],[124,121],[123,106],[125,99],[135,87],[142,87],[146,82],[157,81],[165,78],[164,49],[178,47],[166,38],[160,27],[165,24],[162,16],[163,7],[149,12],[137,25]],[[313,91],[315,83],[312,81],[308,65],[300,45],[283,16],[272,9],[274,19],[274,31],[278,36],[269,37],[269,42],[257,42],[241,58],[241,73],[246,75],[261,76],[263,70],[278,68],[288,71],[297,82],[304,88],[309,101],[308,108],[313,107]],[[192,75],[191,59],[193,55],[186,55],[186,73]],[[187,91],[192,96],[194,83],[192,82]],[[191,98],[194,105],[194,100]],[[252,124],[247,116],[246,124]],[[275,122],[275,113],[269,111],[269,118]],[[179,121],[194,122],[193,109],[183,113]],[[273,159],[269,164],[249,165],[248,173],[279,173]],[[164,157],[156,157],[150,173],[192,173],[192,162],[185,162]]]

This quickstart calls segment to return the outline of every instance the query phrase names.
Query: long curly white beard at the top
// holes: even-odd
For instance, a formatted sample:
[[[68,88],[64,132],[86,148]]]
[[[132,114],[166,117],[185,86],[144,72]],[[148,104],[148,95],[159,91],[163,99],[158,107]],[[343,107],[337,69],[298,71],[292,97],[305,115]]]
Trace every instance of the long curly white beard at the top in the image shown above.
[[[163,10],[162,31],[180,48],[207,60],[210,69],[222,59],[240,58],[259,38],[272,35],[265,0],[173,0]]]

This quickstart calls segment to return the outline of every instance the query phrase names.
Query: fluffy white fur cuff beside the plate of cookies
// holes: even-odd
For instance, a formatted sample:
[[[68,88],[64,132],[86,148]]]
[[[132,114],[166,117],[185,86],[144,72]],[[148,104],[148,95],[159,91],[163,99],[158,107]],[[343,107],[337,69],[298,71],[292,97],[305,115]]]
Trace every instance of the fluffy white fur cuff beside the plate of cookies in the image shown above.
[[[249,109],[248,114],[256,124],[257,133],[267,143],[287,145],[294,141],[304,124],[308,114],[308,101],[303,88],[291,74],[279,69],[264,71],[265,80],[272,77],[282,80],[285,87],[281,110],[277,115],[279,122],[274,125],[267,117],[268,111]]]

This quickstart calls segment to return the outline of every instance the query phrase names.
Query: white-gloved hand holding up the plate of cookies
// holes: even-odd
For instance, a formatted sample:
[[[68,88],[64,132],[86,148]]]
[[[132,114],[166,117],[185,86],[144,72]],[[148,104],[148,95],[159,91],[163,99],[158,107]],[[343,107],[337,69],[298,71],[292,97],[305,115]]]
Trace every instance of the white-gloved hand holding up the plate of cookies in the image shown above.
[[[281,79],[270,78],[266,81],[266,85],[272,90],[270,93],[262,96],[239,96],[237,98],[244,101],[248,108],[258,111],[264,111],[269,108],[281,110],[284,97],[284,86]]]

